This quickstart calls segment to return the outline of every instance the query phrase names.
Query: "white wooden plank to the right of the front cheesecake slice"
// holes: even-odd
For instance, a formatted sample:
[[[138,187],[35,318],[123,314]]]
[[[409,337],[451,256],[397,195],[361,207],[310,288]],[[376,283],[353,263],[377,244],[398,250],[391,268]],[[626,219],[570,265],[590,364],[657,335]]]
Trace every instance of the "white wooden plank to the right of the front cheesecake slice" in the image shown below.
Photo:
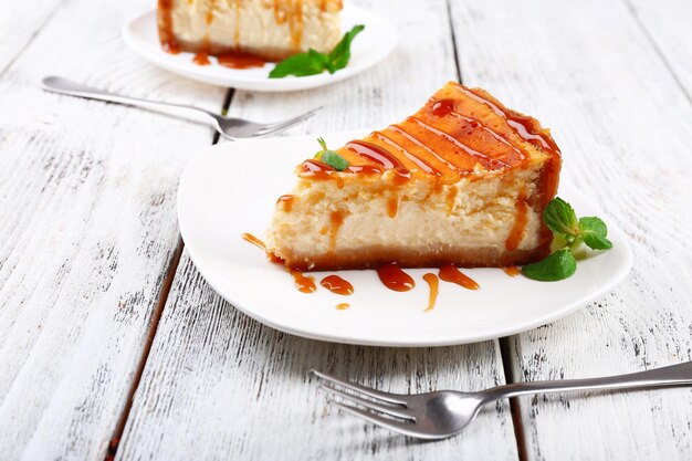
[[[692,105],[631,11],[596,0],[452,6],[465,81],[553,128],[563,176],[625,229],[635,252],[632,273],[610,293],[512,338],[513,378],[692,358]],[[520,407],[532,460],[692,457],[691,389],[527,397]]]

